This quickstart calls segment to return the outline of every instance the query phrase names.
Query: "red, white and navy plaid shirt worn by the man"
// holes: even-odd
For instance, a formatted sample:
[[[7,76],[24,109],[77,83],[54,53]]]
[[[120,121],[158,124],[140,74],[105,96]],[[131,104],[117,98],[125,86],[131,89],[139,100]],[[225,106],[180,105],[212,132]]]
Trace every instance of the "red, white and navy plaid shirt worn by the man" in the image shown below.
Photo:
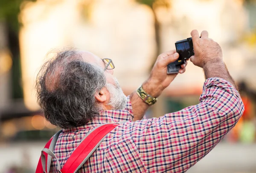
[[[103,140],[79,173],[182,173],[212,150],[236,125],[244,111],[239,92],[224,79],[204,82],[200,103],[160,118],[132,122],[126,110],[104,111],[87,125],[63,129],[54,153],[65,164],[81,139],[103,123],[129,121]],[[57,173],[52,159],[50,173]]]

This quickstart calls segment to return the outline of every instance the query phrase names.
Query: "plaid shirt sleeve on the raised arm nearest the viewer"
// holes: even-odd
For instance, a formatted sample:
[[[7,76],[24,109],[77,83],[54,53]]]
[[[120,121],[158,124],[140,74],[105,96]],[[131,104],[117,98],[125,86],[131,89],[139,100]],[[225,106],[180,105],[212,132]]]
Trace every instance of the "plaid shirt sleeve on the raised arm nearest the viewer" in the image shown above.
[[[199,101],[131,124],[129,133],[149,172],[185,172],[223,139],[244,111],[239,92],[221,78],[204,82]]]

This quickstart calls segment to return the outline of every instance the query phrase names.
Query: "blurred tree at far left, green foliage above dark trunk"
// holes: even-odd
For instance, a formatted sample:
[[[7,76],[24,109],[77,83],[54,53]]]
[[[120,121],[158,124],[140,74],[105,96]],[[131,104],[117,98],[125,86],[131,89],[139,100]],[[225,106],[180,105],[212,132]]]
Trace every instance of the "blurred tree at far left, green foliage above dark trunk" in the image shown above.
[[[36,1],[36,0],[29,0]],[[20,5],[24,0],[0,0],[0,22],[4,23],[7,30],[7,43],[12,53],[12,97],[22,98],[22,84],[20,71],[19,23],[18,15]]]

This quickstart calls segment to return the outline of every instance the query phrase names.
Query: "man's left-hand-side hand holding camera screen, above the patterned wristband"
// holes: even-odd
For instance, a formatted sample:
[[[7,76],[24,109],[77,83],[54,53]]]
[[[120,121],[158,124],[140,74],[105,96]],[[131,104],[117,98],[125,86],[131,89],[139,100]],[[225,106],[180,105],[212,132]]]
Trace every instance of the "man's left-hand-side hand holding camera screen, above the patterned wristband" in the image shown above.
[[[142,88],[151,96],[158,97],[162,91],[170,85],[177,74],[167,74],[167,65],[175,62],[179,58],[176,50],[168,51],[160,54],[151,71],[150,77],[146,80]],[[179,73],[186,71],[187,62],[181,65]]]

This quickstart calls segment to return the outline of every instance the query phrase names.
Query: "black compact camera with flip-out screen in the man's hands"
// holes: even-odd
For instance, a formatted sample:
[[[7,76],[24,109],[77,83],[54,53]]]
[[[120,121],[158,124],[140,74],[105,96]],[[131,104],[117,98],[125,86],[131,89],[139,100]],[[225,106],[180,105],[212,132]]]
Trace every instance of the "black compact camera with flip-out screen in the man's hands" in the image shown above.
[[[191,56],[195,55],[192,37],[177,41],[175,43],[175,47],[180,56],[178,60],[170,63],[167,66],[167,74],[178,73],[180,70],[180,65],[184,64],[186,59],[189,59]]]

